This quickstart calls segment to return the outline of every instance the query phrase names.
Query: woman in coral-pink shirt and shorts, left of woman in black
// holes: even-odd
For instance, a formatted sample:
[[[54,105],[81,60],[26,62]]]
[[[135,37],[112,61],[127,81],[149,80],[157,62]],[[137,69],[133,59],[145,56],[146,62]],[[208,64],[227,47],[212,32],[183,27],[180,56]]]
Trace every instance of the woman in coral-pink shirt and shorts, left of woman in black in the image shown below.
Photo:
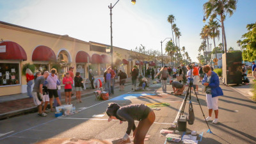
[[[72,84],[73,79],[70,77],[70,74],[67,72],[66,76],[63,77],[63,84],[65,84],[65,102],[66,104],[71,104],[71,92],[72,92]]]

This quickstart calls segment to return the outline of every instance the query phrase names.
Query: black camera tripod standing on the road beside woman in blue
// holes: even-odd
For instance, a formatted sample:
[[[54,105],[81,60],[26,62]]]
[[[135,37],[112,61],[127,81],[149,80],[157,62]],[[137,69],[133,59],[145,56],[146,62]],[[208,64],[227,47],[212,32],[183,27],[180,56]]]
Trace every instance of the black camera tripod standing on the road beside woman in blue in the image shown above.
[[[185,109],[185,107],[186,107],[186,102],[187,102],[188,96],[189,96],[189,102],[191,102],[191,87],[193,86],[193,81],[192,81],[192,74],[193,74],[193,73],[192,73],[192,65],[189,64],[188,66],[189,66],[189,68],[190,68],[190,81],[189,81],[189,86],[188,86],[188,91],[187,91],[187,93],[186,93],[186,97],[184,98],[184,104],[183,104],[183,106],[182,106],[182,109],[181,109],[181,112],[180,112],[180,115],[179,115],[179,118],[178,118],[177,122],[179,122],[180,116],[183,115],[183,113],[184,113],[184,109]],[[195,92],[195,94],[196,94],[195,88],[193,88],[193,89],[194,89],[194,92]],[[199,100],[198,100],[197,94],[196,94],[196,99],[197,99],[197,102],[198,102],[198,104],[199,104],[199,106],[200,106],[200,109],[201,109],[201,111],[202,111],[202,114],[203,114],[204,120],[205,120],[204,111],[203,111],[203,109],[202,109],[202,107],[201,107],[201,104],[200,104],[200,102],[199,102]],[[206,122],[206,124],[207,124],[207,127],[209,128],[207,132],[212,133],[212,131],[211,131],[209,125],[208,125],[208,122],[207,122],[206,120],[205,120],[205,122]],[[177,124],[178,124],[178,123],[177,123]],[[177,127],[176,127],[175,129],[177,129]]]

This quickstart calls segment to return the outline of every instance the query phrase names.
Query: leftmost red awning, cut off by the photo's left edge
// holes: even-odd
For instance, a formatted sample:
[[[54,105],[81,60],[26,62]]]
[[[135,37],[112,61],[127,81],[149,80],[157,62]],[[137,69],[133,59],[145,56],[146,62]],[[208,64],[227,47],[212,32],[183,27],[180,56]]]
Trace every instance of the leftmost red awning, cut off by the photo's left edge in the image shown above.
[[[0,60],[27,60],[24,49],[16,42],[0,42]]]

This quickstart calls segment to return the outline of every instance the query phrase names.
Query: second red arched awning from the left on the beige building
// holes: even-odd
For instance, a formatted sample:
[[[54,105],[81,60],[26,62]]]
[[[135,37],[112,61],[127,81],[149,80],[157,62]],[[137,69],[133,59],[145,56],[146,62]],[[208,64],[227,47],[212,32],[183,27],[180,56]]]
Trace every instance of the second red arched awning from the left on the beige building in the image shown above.
[[[33,51],[32,61],[56,61],[56,55],[51,48],[40,45]]]

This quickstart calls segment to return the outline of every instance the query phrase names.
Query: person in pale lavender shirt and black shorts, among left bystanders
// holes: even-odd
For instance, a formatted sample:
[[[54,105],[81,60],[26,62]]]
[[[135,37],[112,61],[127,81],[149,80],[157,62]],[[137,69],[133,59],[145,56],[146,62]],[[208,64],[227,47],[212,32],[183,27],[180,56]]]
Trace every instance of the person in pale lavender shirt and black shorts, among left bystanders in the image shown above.
[[[60,99],[58,97],[58,92],[57,92],[58,77],[55,74],[56,74],[56,69],[52,68],[51,75],[49,75],[49,77],[47,77],[47,79],[46,79],[46,81],[48,82],[47,89],[49,92],[51,111],[53,111],[53,109],[52,109],[53,96],[57,100],[58,104],[61,106],[61,102],[60,102]]]

